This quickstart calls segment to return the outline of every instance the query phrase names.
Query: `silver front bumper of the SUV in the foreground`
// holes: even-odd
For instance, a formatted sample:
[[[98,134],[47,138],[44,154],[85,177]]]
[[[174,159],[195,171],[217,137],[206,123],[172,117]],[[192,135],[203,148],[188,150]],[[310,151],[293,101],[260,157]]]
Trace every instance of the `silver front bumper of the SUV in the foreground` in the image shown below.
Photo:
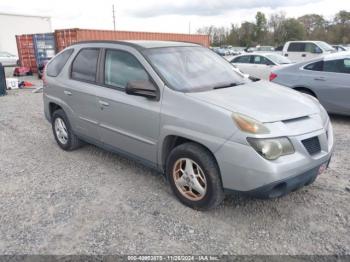
[[[321,146],[320,152],[313,155],[302,143],[303,140],[312,137],[318,137]],[[316,171],[318,172],[321,165],[329,162],[333,152],[331,123],[328,124],[327,129],[289,137],[289,139],[294,146],[295,153],[282,156],[274,161],[266,160],[249,145],[233,141],[226,142],[215,153],[224,189],[261,193],[268,192],[269,189],[281,184],[281,190],[288,193],[297,189],[299,185],[308,184],[308,181],[316,178]]]

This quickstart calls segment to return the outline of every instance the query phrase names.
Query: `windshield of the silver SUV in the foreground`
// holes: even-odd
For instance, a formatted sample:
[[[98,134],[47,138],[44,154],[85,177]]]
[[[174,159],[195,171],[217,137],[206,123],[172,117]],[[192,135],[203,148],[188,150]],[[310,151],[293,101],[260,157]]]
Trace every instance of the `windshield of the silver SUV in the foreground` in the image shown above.
[[[144,54],[163,80],[177,91],[199,92],[249,81],[207,48],[153,48]]]

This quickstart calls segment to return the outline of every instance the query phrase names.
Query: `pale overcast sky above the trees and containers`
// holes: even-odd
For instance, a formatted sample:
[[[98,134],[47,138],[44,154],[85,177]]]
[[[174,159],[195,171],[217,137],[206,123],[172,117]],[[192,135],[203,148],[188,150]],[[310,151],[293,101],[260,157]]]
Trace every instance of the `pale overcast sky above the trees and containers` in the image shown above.
[[[229,26],[253,21],[255,13],[284,11],[289,17],[318,13],[332,18],[350,11],[350,0],[0,0],[0,12],[48,15],[53,29],[113,29],[192,33],[206,25]]]

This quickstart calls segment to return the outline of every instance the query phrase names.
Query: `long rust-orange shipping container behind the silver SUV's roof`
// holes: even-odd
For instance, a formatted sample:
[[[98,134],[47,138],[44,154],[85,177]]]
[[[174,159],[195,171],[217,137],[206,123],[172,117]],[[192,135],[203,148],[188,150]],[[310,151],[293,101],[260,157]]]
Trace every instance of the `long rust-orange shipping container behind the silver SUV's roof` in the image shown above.
[[[77,42],[91,40],[180,41],[197,43],[205,47],[209,47],[210,44],[208,35],[90,30],[79,28],[56,30],[55,36],[57,51],[61,51],[64,48]]]

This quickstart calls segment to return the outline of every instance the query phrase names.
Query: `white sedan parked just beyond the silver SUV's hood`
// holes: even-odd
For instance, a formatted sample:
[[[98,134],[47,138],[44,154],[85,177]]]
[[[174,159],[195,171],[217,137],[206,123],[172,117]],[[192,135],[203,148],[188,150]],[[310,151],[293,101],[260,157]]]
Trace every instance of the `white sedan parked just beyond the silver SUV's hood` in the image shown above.
[[[234,57],[231,63],[243,73],[255,78],[268,80],[272,70],[290,65],[292,62],[279,54],[249,53]]]

